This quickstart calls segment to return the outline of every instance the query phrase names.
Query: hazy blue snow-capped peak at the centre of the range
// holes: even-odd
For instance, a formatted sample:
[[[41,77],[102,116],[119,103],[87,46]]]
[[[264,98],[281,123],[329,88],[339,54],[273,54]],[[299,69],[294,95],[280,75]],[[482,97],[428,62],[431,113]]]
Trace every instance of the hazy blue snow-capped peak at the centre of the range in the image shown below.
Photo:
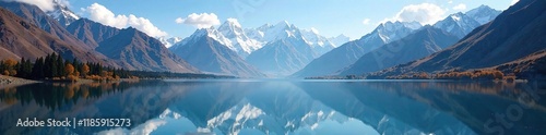
[[[321,41],[325,38],[316,33],[307,33],[310,37],[307,40],[304,36],[306,32],[286,21],[276,25],[266,24],[253,30],[249,30],[254,33],[250,34],[251,37],[266,44],[250,53],[246,60],[273,76],[289,75],[304,68],[321,52],[329,50],[328,48],[333,48],[328,39]]]

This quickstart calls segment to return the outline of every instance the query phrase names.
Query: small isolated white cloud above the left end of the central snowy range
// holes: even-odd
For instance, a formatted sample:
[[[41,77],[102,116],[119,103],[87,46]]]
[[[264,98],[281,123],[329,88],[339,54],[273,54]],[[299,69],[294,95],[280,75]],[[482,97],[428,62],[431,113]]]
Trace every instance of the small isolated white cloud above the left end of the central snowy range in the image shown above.
[[[213,25],[219,25],[218,16],[214,13],[192,13],[186,19],[178,17],[175,21],[178,24],[188,24],[198,28],[207,28]]]

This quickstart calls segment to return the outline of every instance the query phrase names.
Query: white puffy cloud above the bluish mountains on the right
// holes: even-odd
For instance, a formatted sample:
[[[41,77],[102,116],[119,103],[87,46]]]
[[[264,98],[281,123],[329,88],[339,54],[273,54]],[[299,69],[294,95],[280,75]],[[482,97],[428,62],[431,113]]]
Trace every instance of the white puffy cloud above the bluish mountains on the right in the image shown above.
[[[400,22],[419,22],[420,24],[434,24],[444,17],[446,10],[432,3],[410,4],[396,13],[394,17],[385,19],[387,21]]]

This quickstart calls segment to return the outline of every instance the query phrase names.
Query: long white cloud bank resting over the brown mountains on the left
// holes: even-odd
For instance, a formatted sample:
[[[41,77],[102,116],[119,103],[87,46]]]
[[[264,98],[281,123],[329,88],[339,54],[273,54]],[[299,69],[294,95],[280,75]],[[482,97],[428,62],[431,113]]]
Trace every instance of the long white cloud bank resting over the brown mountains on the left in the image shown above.
[[[104,25],[117,27],[117,28],[126,28],[128,26],[134,27],[149,36],[152,37],[162,37],[167,36],[168,34],[161,30],[150,20],[144,17],[138,17],[133,14],[123,15],[123,14],[114,14],[106,7],[93,3],[90,7],[85,8],[84,11],[90,14],[90,20],[99,22]]]

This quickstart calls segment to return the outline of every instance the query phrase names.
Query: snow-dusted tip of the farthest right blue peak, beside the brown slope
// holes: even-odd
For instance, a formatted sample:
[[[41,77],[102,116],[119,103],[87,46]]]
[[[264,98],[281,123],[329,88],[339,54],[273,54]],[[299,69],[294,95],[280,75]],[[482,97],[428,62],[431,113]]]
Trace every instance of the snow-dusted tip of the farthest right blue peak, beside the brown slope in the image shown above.
[[[487,5],[479,5],[476,9],[472,9],[471,11],[466,12],[465,14],[468,15],[470,17],[474,19],[476,22],[478,22],[480,25],[484,25],[486,23],[489,23],[490,21],[495,20],[502,11],[498,11],[495,9],[491,9]]]

